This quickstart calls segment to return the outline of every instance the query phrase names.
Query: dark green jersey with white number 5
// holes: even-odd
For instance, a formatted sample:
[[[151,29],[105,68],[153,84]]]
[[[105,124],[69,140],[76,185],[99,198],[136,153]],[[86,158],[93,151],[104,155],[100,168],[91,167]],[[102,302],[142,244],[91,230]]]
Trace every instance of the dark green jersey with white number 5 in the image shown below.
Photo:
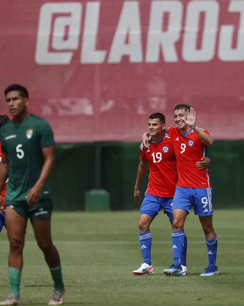
[[[17,125],[14,120],[0,130],[2,152],[9,160],[9,182],[6,200],[26,200],[27,193],[41,174],[44,158],[42,147],[54,145],[49,123],[33,114]],[[41,190],[40,199],[50,198],[48,182]]]

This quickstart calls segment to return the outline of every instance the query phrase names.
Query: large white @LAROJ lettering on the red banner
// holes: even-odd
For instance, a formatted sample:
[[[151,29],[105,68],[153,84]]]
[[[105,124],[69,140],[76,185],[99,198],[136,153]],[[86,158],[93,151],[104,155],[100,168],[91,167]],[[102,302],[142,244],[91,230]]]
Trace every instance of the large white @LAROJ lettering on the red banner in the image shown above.
[[[141,24],[142,14],[145,14],[145,8],[140,3],[142,1],[120,2],[123,2],[122,6],[115,4],[116,8],[120,9],[118,17],[114,17],[115,14],[111,9],[109,18],[102,16],[102,12],[107,11],[106,1],[87,1],[85,5],[81,1],[52,1],[43,4],[39,15],[36,63],[69,65],[79,46],[81,46],[79,56],[81,64],[121,63],[124,56],[129,58],[130,63],[157,63],[161,56],[165,63],[178,63],[181,60],[211,62],[215,56],[222,62],[244,60],[242,22],[235,21],[229,24],[231,12],[239,12],[242,16],[242,1],[228,1],[228,8],[220,6],[217,0],[190,0],[187,5],[181,1],[148,1],[150,18],[145,20],[143,25],[143,29],[147,27],[145,39],[142,36],[144,30]],[[163,31],[162,24],[166,12],[169,15],[168,30]],[[206,17],[199,26],[201,12],[205,12]],[[81,27],[83,16],[84,27]],[[110,20],[114,24],[113,39],[102,50],[97,47],[97,41],[103,41],[106,37],[107,33],[104,30],[109,26]],[[219,25],[223,21],[224,24]],[[185,28],[182,24],[185,24]],[[188,28],[198,30],[190,33]],[[233,47],[233,37],[236,32],[237,42],[236,47]],[[197,47],[199,37],[201,37],[200,48]],[[179,42],[181,52],[176,49],[176,44]],[[143,52],[144,43],[145,52]]]

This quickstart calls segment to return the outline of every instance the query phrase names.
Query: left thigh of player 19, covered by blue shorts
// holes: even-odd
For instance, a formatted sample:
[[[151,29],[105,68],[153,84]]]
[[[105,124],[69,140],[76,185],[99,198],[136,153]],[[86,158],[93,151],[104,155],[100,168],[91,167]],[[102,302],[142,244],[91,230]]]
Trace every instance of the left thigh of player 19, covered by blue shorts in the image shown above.
[[[140,209],[140,215],[145,214],[154,219],[161,208],[160,197],[146,193]]]

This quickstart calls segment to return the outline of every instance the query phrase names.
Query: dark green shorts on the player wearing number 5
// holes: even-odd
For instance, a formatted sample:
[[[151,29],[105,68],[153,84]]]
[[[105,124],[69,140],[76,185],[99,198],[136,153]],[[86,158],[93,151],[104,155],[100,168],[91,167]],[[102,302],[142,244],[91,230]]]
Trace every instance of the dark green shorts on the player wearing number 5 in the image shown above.
[[[51,218],[52,199],[41,199],[33,206],[28,206],[27,201],[5,200],[5,206],[13,208],[22,218],[30,218],[31,223]]]

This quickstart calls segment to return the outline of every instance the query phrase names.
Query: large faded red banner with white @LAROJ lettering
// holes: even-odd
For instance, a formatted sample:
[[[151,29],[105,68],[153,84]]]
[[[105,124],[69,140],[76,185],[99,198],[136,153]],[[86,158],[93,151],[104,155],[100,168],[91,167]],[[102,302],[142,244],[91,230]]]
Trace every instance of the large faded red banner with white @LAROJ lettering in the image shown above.
[[[141,140],[175,103],[244,139],[244,1],[8,0],[0,27],[1,92],[27,87],[58,142]]]

